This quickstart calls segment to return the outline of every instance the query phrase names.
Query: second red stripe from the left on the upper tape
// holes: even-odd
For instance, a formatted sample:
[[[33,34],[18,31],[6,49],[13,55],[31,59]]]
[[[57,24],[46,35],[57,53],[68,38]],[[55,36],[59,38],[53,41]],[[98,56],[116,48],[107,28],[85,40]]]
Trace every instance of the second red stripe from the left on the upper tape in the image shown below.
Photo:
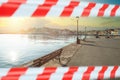
[[[32,16],[46,16],[46,14],[49,12],[51,7],[57,3],[58,0],[52,0],[54,1],[53,4],[47,4],[51,0],[46,0],[43,5],[39,5],[37,10],[33,13]]]

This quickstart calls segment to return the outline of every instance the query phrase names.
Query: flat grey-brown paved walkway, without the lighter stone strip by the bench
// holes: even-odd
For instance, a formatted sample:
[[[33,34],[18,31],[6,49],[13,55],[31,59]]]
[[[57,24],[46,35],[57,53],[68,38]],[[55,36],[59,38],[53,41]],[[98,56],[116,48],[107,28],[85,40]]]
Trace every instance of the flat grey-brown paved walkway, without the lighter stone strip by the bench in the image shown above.
[[[68,66],[120,65],[120,39],[89,39],[78,46]]]

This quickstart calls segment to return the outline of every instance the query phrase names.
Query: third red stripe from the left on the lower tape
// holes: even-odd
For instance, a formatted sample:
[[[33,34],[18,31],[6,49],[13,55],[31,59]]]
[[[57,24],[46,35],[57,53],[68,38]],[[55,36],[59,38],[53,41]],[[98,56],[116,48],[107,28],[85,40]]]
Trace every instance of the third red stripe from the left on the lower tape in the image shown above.
[[[62,80],[72,80],[73,74],[78,70],[78,67],[70,67],[68,72],[63,76]]]

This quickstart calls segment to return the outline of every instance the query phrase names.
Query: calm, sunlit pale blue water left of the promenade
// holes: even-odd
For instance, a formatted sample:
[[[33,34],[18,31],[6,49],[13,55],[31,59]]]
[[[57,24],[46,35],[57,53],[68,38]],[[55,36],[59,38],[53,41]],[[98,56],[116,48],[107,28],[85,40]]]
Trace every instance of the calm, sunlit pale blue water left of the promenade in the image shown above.
[[[74,36],[0,34],[0,67],[13,67],[29,62],[74,41]]]

